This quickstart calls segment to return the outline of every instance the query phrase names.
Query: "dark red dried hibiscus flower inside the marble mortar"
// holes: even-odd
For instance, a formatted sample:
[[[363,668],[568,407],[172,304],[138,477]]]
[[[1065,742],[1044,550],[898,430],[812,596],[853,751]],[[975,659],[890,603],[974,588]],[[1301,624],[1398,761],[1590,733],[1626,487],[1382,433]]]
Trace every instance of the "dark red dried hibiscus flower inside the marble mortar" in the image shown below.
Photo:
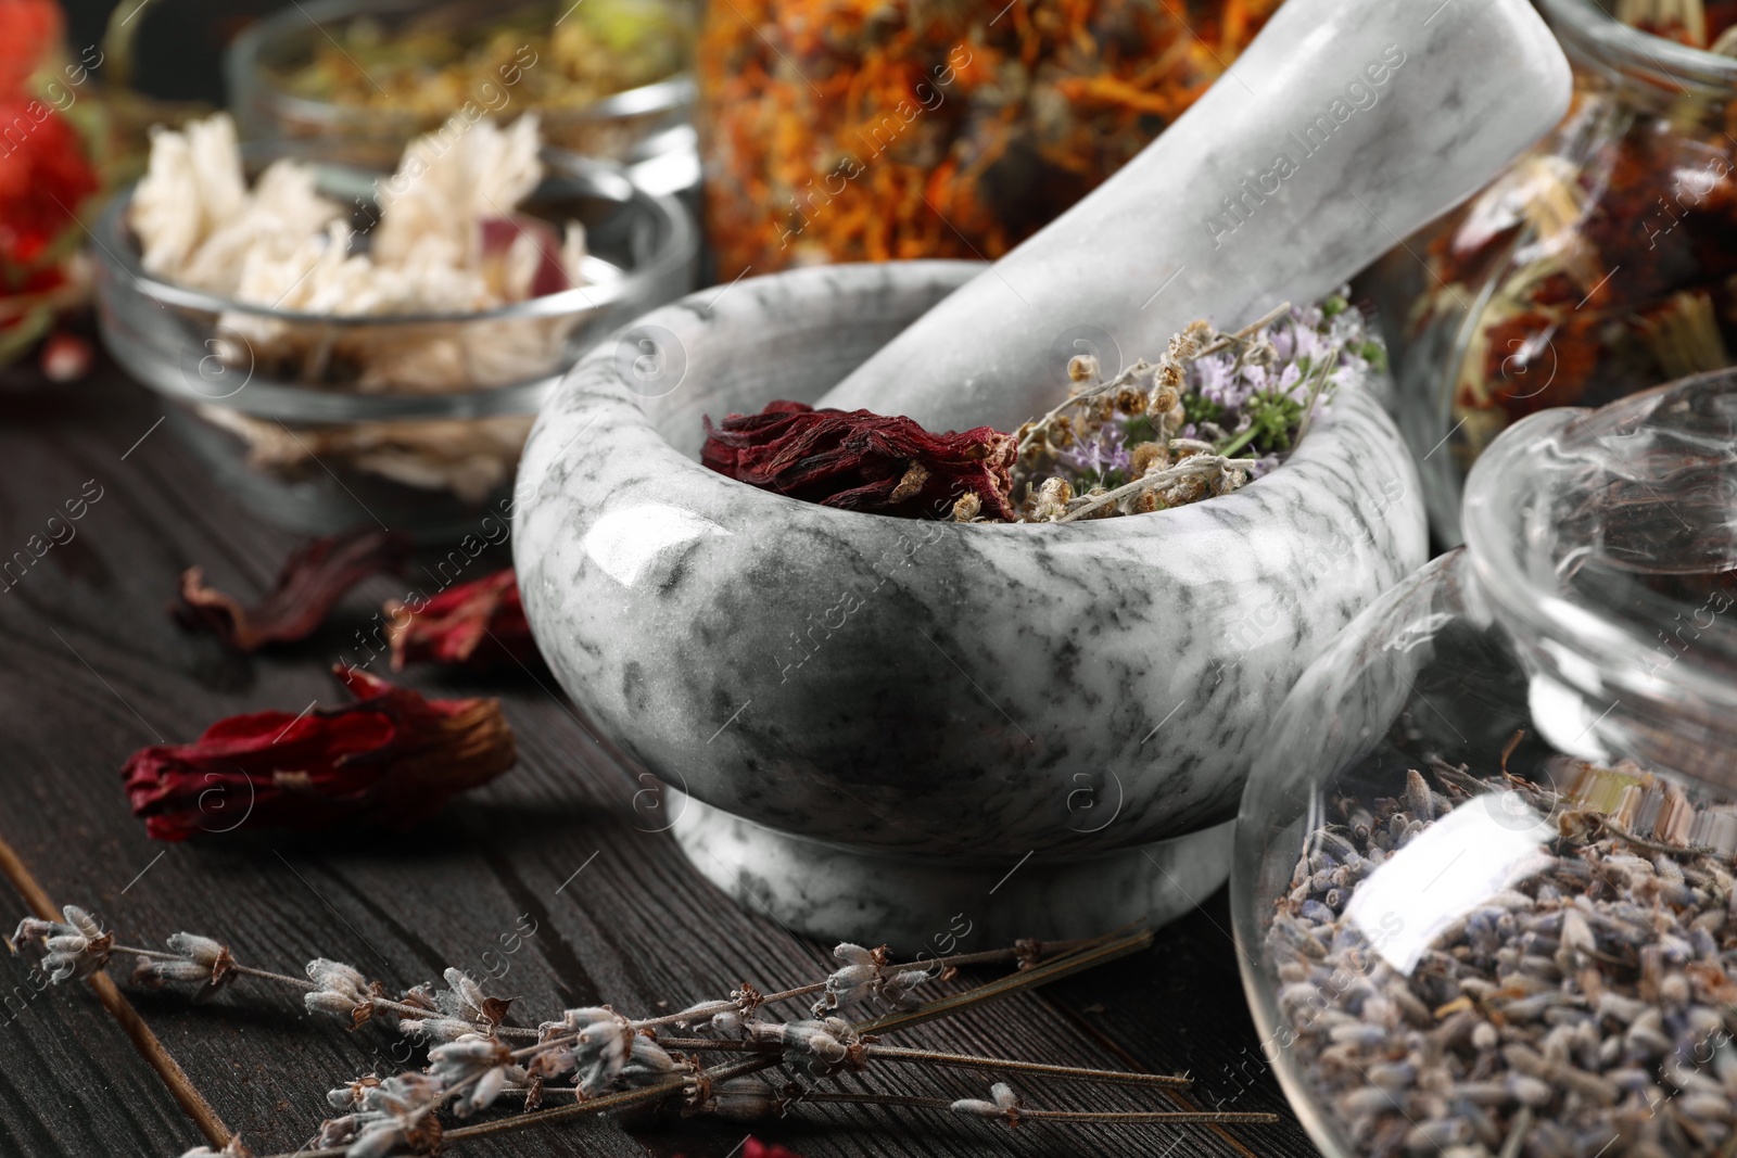
[[[768,403],[757,415],[705,418],[700,462],[719,474],[844,510],[948,517],[973,493],[988,519],[1013,521],[1018,443],[994,427],[931,434],[867,410]]]

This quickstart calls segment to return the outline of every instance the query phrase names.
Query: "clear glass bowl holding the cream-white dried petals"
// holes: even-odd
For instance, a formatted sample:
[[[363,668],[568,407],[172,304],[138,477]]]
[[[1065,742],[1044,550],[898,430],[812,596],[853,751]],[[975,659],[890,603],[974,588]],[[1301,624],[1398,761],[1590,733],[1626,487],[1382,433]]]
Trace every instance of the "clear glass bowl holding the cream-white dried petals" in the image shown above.
[[[254,149],[248,168],[306,151]],[[585,226],[582,286],[450,316],[250,306],[148,274],[125,222],[129,189],[94,234],[102,339],[175,403],[170,425],[217,484],[269,521],[330,533],[372,517],[427,542],[459,536],[509,497],[532,420],[578,356],[693,283],[698,231],[676,198],[606,161],[556,149],[542,160],[544,182],[519,208]],[[316,168],[323,194],[358,207],[358,231],[372,224],[380,174]],[[466,387],[434,392],[450,382],[429,375],[455,365]]]

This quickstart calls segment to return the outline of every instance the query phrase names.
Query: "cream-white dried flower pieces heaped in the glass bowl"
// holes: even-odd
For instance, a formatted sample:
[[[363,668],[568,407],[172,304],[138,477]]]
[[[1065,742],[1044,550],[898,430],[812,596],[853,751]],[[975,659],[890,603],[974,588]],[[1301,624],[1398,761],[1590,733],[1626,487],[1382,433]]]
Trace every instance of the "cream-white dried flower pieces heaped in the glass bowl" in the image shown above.
[[[478,122],[405,149],[379,184],[380,222],[367,250],[347,214],[320,196],[314,170],[273,163],[248,189],[234,123],[222,113],[151,135],[129,222],[148,271],[247,306],[334,318],[472,314],[584,285],[585,231],[565,236],[514,215],[542,181],[538,127]],[[552,373],[578,319],[505,318],[434,325],[320,325],[224,311],[226,361],[365,394],[452,394]],[[295,470],[335,457],[408,486],[479,500],[511,474],[528,417],[283,427],[205,406],[240,434],[255,467]]]

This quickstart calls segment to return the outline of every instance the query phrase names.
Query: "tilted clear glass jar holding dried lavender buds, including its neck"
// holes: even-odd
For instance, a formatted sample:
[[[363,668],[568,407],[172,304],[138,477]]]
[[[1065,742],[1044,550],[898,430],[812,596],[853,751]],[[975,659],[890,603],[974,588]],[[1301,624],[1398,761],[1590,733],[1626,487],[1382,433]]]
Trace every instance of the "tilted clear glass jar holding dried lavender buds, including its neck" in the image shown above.
[[[1232,899],[1346,1155],[1737,1144],[1737,372],[1497,438],[1275,717]]]

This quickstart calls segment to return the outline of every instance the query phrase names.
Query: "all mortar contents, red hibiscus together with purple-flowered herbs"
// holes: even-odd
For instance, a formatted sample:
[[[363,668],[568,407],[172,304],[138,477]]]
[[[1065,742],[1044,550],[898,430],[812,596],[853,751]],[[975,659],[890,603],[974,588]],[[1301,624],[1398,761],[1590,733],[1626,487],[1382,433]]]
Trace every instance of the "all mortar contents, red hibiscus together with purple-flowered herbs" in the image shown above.
[[[700,460],[790,498],[959,523],[1072,523],[1228,495],[1278,467],[1339,384],[1386,351],[1344,293],[1280,306],[1221,333],[1197,321],[1155,361],[1105,378],[1068,365],[1072,392],[1016,434],[931,434],[867,410],[769,403],[705,420]]]

